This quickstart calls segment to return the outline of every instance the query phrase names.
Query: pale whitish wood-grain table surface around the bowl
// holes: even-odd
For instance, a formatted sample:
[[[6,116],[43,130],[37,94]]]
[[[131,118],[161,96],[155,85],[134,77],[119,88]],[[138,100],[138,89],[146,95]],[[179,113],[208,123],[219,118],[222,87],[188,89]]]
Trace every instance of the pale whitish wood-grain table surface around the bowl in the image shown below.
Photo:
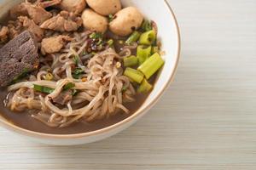
[[[0,127],[0,169],[256,169],[256,1],[169,2],[181,60],[147,116],[110,139],[69,147]]]

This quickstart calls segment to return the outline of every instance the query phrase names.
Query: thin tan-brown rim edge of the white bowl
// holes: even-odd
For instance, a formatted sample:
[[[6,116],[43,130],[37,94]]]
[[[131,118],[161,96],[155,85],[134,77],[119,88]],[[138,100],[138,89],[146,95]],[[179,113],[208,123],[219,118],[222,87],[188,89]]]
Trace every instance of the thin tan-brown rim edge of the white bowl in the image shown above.
[[[120,127],[120,126],[126,124],[127,122],[131,122],[132,120],[137,118],[137,116],[140,116],[141,114],[150,110],[158,102],[160,97],[164,94],[164,92],[166,91],[166,88],[168,88],[170,86],[170,84],[172,83],[172,81],[174,79],[174,76],[177,72],[177,64],[178,64],[178,61],[179,61],[179,58],[180,58],[180,51],[181,51],[181,37],[180,37],[180,30],[179,30],[179,27],[178,27],[178,24],[177,24],[177,18],[175,16],[170,4],[167,2],[167,0],[164,0],[164,3],[166,4],[166,7],[170,10],[170,12],[172,14],[172,17],[175,20],[175,27],[176,27],[176,30],[177,30],[177,56],[176,56],[176,60],[175,60],[175,66],[173,67],[173,70],[172,70],[172,75],[170,77],[168,77],[168,82],[166,82],[166,84],[165,84],[165,86],[163,86],[163,88],[160,88],[160,93],[143,110],[137,111],[133,115],[131,115],[131,116],[125,118],[124,120],[122,120],[120,122],[117,122],[117,123],[115,123],[111,126],[103,127],[101,129],[91,131],[91,132],[88,132],[88,133],[74,133],[74,134],[39,133],[39,132],[27,130],[27,129],[22,128],[22,127],[18,127],[15,124],[13,124],[12,122],[9,122],[7,120],[2,120],[2,119],[0,119],[0,125],[3,125],[3,127],[6,127],[9,130],[12,130],[15,133],[24,134],[26,136],[30,136],[30,137],[34,137],[34,138],[80,139],[80,138],[84,138],[84,137],[89,137],[89,136],[94,136],[94,135],[98,135],[98,134],[101,134],[101,133],[109,132],[109,131],[113,130],[114,128],[117,128],[117,127]]]

